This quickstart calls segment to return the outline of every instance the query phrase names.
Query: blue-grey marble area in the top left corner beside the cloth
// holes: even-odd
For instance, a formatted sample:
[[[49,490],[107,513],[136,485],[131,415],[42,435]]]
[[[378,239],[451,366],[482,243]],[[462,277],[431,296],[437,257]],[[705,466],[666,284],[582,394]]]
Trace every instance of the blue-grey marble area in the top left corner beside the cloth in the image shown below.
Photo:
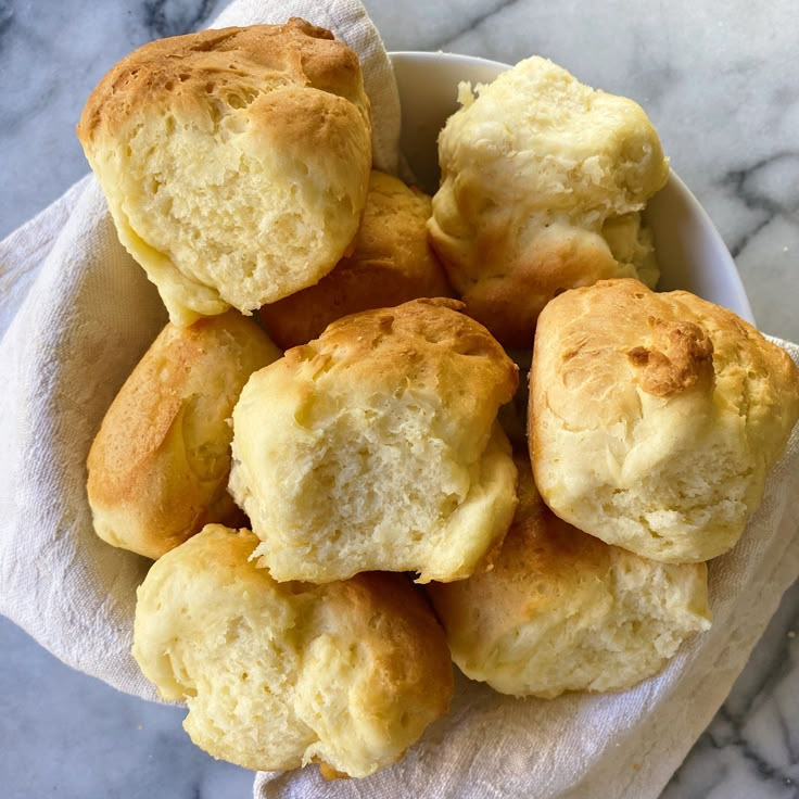
[[[0,237],[87,169],[75,125],[103,74],[151,39],[203,27],[225,0],[0,0]]]

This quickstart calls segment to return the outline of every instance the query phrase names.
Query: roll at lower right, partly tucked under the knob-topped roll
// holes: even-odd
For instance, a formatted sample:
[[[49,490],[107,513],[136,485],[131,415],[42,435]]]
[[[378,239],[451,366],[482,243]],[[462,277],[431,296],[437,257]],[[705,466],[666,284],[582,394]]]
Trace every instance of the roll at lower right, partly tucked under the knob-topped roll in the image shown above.
[[[710,626],[705,563],[665,565],[580,532],[547,509],[527,455],[519,508],[484,574],[427,591],[453,659],[515,696],[621,690]]]

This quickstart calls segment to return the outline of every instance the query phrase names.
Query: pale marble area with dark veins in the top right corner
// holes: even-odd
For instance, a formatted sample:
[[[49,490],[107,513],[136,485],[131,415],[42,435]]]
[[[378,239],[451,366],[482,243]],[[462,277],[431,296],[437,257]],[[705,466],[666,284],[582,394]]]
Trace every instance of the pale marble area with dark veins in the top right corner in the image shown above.
[[[639,102],[735,256],[756,318],[797,340],[799,312],[778,296],[799,293],[795,3],[449,0],[436,9],[428,17],[376,3],[373,17],[391,48],[507,63],[537,53]]]

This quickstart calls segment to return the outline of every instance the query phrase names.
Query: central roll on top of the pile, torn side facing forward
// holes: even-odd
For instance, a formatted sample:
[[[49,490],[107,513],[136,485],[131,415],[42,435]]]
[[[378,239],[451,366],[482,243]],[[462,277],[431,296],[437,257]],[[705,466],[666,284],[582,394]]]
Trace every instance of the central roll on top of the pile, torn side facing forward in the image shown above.
[[[230,492],[276,580],[479,568],[516,508],[516,365],[455,300],[339,319],[250,378]]]

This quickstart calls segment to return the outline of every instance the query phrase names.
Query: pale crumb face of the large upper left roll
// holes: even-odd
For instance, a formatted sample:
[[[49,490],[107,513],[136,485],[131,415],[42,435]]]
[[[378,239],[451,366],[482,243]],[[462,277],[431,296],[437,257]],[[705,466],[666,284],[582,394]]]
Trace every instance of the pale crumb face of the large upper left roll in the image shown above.
[[[308,195],[307,166],[253,148],[246,107],[257,96],[253,89],[239,107],[210,98],[204,125],[165,113],[131,137],[123,164],[132,230],[240,309],[255,307],[270,280],[290,279],[337,232],[325,210],[335,199]]]

